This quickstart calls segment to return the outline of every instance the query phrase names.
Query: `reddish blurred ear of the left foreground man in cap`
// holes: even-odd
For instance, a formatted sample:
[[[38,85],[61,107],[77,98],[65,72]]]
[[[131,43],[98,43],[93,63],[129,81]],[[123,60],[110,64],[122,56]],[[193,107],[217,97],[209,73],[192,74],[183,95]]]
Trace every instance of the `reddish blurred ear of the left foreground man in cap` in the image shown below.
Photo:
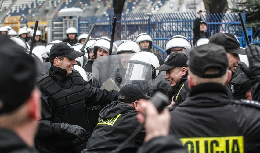
[[[34,120],[40,120],[41,115],[41,92],[34,89],[31,96],[26,101],[29,117]]]

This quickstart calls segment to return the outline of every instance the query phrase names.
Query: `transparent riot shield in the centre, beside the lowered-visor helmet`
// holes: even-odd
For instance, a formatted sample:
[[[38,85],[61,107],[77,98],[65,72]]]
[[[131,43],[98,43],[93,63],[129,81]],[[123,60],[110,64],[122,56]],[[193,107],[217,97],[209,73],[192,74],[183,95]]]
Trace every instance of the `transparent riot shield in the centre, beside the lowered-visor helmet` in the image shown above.
[[[93,87],[119,91],[125,84],[128,61],[134,54],[102,56],[92,65]]]

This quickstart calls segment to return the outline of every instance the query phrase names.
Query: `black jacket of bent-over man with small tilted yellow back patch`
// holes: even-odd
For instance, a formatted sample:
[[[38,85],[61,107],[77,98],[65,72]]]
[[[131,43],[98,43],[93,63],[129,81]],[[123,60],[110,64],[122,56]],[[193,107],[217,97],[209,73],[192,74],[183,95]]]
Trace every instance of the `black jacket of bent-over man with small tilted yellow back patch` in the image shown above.
[[[120,101],[114,101],[103,108],[100,120],[88,140],[84,152],[114,152],[125,139],[130,137],[140,125],[136,119],[137,111]],[[119,152],[136,152],[143,143],[145,132],[142,130],[128,142]]]

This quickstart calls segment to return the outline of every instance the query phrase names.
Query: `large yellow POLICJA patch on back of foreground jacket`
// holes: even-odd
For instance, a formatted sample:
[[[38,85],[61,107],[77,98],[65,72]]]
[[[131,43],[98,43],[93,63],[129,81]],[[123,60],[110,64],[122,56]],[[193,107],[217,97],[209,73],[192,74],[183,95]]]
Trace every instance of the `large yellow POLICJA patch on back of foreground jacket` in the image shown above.
[[[244,153],[243,136],[180,138],[189,153]]]

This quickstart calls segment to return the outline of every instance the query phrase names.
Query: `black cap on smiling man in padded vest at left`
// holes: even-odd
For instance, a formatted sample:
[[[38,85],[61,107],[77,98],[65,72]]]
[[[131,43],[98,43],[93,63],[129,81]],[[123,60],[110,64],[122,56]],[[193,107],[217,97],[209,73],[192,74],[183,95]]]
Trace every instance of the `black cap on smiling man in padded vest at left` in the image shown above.
[[[68,42],[59,42],[52,45],[50,49],[49,59],[53,59],[59,56],[65,56],[67,58],[75,59],[83,56],[85,53],[78,52]]]

